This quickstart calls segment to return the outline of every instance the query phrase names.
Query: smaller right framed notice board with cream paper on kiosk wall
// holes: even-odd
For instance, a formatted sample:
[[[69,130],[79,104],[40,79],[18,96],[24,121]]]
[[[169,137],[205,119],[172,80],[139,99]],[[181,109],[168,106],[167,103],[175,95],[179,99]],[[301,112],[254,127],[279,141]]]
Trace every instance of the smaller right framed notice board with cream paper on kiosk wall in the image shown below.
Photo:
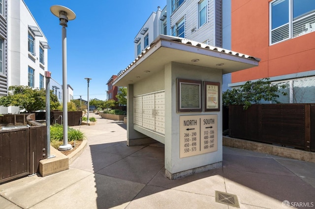
[[[204,81],[205,112],[220,111],[220,83]]]

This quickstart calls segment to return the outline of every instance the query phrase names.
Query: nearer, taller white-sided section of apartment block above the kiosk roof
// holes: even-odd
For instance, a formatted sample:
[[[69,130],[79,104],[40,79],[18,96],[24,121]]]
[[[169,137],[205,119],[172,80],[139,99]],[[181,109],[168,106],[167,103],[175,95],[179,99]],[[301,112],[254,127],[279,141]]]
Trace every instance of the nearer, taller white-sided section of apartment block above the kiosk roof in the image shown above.
[[[222,0],[167,0],[167,35],[222,47]]]

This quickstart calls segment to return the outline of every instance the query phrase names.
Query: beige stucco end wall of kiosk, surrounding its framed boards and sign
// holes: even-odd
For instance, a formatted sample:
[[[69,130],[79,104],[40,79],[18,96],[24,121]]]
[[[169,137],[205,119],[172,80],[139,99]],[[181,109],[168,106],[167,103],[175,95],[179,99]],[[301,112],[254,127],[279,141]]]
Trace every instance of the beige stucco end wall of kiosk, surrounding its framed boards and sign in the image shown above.
[[[222,126],[218,126],[218,151],[180,158],[180,124],[181,115],[218,115],[218,124],[222,123],[221,112],[176,112],[177,82],[176,78],[194,79],[202,81],[220,82],[222,85],[222,72],[219,69],[200,67],[172,62],[165,66],[165,169],[172,174],[185,170],[207,166],[221,166],[222,161]],[[220,86],[221,88],[221,86]],[[220,98],[222,97],[220,91]],[[220,104],[222,109],[222,102]],[[205,168],[207,170],[208,168]]]

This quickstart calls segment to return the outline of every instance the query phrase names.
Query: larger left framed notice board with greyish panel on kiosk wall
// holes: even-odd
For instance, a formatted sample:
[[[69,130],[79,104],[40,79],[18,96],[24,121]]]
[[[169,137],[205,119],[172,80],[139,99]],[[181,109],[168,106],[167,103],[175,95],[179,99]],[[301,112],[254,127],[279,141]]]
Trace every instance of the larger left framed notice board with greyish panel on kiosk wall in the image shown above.
[[[202,81],[177,79],[177,112],[202,111]]]

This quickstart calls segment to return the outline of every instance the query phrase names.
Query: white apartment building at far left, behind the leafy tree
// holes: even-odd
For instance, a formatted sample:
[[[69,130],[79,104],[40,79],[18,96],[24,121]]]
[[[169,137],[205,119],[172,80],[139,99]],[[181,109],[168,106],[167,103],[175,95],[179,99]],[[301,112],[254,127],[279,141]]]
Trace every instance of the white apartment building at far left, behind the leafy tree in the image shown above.
[[[45,88],[48,43],[23,0],[0,0],[0,96],[11,85]],[[0,113],[18,113],[0,107]]]

